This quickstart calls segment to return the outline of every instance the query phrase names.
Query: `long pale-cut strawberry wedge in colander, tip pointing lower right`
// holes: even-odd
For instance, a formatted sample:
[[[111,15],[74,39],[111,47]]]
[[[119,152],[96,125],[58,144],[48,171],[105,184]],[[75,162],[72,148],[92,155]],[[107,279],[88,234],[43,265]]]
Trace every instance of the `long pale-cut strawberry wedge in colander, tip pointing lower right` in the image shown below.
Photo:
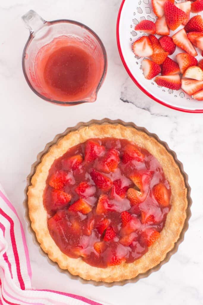
[[[189,41],[186,31],[184,29],[178,31],[172,36],[173,42],[179,48],[183,49],[185,52],[192,56],[197,56],[197,52],[191,42]]]

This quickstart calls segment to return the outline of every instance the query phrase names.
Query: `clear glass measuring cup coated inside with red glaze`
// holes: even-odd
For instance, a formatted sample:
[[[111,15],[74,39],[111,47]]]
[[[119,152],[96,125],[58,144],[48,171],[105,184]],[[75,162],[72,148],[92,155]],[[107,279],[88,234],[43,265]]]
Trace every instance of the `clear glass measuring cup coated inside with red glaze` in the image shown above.
[[[22,19],[30,30],[30,37],[23,50],[23,73],[33,92],[48,102],[64,106],[95,102],[107,72],[106,50],[96,33],[72,20],[46,21],[33,10],[23,15]],[[53,91],[44,80],[46,60],[59,47],[67,45],[84,49],[86,56],[92,58],[92,70],[88,68],[88,73],[84,74],[86,81],[84,85],[82,83],[81,94],[74,91],[74,95],[65,95],[58,88]],[[81,68],[80,65],[78,68]],[[54,69],[52,71],[55,73]]]

